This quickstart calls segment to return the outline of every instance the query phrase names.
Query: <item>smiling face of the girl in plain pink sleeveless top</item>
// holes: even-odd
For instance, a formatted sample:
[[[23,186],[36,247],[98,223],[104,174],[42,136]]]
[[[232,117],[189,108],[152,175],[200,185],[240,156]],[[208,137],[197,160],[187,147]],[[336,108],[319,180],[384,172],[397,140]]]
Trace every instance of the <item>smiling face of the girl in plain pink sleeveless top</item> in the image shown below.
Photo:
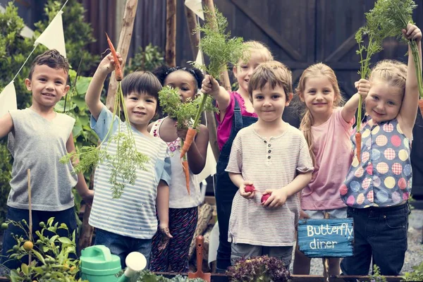
[[[325,75],[307,78],[304,92],[300,93],[300,98],[305,102],[312,116],[331,113],[335,97],[332,83]]]

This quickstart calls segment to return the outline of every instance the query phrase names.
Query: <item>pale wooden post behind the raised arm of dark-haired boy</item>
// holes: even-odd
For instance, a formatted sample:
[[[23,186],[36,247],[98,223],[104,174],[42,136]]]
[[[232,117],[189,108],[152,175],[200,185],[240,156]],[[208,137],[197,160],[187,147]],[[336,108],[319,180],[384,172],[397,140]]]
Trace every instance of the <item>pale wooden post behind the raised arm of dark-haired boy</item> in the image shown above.
[[[128,57],[128,50],[130,46],[130,39],[132,38],[135,13],[137,12],[138,0],[128,0],[125,5],[125,13],[123,14],[122,30],[119,35],[119,42],[116,51],[122,56],[122,71],[125,68],[126,58]],[[107,92],[106,106],[111,111],[114,106],[114,99],[118,89],[118,82],[114,75],[110,77],[109,90]]]

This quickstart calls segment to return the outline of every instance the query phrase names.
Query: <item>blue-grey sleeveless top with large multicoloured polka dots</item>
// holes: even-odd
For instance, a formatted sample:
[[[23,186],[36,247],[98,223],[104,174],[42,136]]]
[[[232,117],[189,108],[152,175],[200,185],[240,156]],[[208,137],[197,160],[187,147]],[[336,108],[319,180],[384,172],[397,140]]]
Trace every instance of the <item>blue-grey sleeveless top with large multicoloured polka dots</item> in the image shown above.
[[[349,207],[389,207],[410,197],[412,169],[410,140],[396,119],[362,124],[362,162],[357,160],[355,135],[351,136],[355,157],[340,188]]]

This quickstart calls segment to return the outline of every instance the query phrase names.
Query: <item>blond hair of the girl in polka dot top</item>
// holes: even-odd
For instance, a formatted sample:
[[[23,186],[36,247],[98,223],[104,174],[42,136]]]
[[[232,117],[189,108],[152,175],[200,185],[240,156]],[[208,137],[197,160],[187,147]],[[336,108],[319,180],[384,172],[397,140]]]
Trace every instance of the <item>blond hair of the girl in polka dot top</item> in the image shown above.
[[[376,63],[369,75],[369,81],[384,80],[393,87],[405,90],[407,78],[407,65],[394,60],[382,60]]]

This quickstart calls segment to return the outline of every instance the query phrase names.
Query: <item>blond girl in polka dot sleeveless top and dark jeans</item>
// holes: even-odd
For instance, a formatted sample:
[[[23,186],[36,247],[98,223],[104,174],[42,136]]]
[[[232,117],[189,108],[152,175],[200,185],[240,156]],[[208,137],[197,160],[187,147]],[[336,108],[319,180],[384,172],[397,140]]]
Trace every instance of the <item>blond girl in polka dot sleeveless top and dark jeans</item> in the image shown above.
[[[403,34],[416,40],[421,58],[422,32],[408,24]],[[369,77],[362,161],[354,157],[340,189],[355,231],[354,256],[341,262],[345,275],[367,275],[371,261],[381,274],[398,275],[404,264],[412,181],[410,142],[419,99],[410,47],[408,54],[408,66],[380,61]],[[355,147],[355,137],[351,140]]]

